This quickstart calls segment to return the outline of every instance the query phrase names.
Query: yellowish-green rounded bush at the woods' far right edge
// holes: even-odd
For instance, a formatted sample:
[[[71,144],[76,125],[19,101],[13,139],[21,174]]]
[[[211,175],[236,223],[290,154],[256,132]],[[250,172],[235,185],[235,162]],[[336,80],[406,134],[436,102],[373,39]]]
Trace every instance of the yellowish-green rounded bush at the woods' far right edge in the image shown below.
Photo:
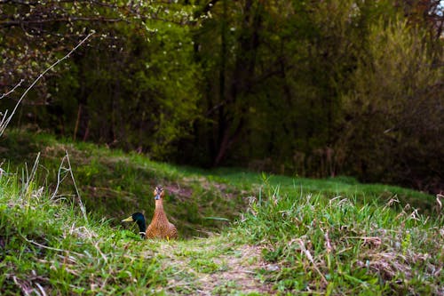
[[[342,99],[346,116],[337,149],[344,150],[345,172],[439,191],[444,146],[430,140],[444,131],[443,71],[432,65],[439,57],[425,37],[400,20],[380,20],[369,29],[369,52]]]

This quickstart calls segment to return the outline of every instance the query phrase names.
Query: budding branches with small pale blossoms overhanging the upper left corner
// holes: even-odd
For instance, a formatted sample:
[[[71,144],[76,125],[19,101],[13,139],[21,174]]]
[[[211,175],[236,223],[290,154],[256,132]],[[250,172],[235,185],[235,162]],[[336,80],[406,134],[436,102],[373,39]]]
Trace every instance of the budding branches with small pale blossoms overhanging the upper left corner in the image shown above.
[[[110,50],[118,38],[114,28],[121,23],[149,35],[155,28],[147,21],[185,24],[190,14],[178,5],[156,1],[3,1],[0,8],[0,29],[5,33],[0,39],[1,62],[8,69],[2,88],[37,76],[60,52],[91,31],[98,33],[100,48]]]

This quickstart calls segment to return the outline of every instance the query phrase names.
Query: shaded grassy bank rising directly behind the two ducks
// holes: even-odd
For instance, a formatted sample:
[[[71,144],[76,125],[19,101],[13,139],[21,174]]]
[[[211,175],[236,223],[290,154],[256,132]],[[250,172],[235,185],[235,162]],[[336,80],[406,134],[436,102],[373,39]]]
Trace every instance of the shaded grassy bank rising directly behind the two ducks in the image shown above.
[[[75,187],[69,174],[72,169],[86,208],[96,217],[107,218],[113,226],[120,225],[120,220],[133,212],[152,216],[152,190],[157,184],[168,192],[165,208],[182,236],[207,236],[208,232],[226,227],[227,220],[233,221],[245,206],[242,195],[229,184],[155,163],[147,156],[56,140],[41,133],[12,131],[0,140],[0,159],[3,158],[3,167],[10,167],[9,172],[30,172],[40,153],[36,180],[52,191],[58,184],[60,163],[68,155],[72,167],[67,161],[61,165],[58,194],[73,194]]]

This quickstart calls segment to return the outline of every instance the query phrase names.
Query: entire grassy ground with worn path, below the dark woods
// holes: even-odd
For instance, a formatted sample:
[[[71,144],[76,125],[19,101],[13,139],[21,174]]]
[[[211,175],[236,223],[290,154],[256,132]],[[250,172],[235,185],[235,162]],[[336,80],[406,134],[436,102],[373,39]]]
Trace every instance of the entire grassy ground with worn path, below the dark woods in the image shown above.
[[[0,179],[2,294],[444,293],[444,223],[432,196],[345,178],[178,168],[45,135],[22,139],[2,139],[8,171],[37,151],[41,167],[35,179]],[[87,220],[68,178],[51,198],[65,149]],[[166,209],[182,237],[226,226],[210,217],[236,221],[209,238],[141,241],[117,221],[139,207],[149,216],[157,183],[170,188]]]

